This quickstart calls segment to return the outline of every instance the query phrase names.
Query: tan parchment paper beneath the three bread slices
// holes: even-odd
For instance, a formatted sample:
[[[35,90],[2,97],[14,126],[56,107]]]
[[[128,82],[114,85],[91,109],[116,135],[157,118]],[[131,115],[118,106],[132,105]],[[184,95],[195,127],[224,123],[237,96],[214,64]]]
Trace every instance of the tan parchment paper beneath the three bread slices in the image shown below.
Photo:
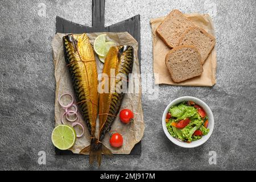
[[[213,21],[208,14],[185,14],[185,16],[187,16],[196,26],[204,28],[209,34],[215,36]],[[172,81],[165,63],[166,55],[171,49],[164,44],[155,32],[156,28],[163,22],[164,18],[165,17],[160,17],[150,20],[152,28],[155,84],[176,86],[213,86],[216,84],[217,53],[215,47],[205,61],[203,65],[204,71],[200,77],[191,78],[180,83]],[[156,74],[158,74],[158,79]]]

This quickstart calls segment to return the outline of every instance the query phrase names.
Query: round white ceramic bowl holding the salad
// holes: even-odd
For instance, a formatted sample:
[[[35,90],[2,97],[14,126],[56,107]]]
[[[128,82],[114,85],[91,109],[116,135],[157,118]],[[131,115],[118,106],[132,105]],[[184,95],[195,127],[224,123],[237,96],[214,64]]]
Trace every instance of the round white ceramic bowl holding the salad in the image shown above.
[[[197,141],[193,141],[191,143],[180,142],[176,138],[172,137],[170,135],[170,133],[168,132],[167,127],[166,127],[166,115],[168,113],[168,110],[170,109],[171,106],[175,106],[175,105],[177,105],[177,104],[179,104],[180,102],[183,102],[183,101],[193,101],[193,102],[195,102],[196,105],[199,105],[199,106],[203,107],[203,109],[205,110],[205,112],[208,115],[208,121],[209,121],[208,129],[210,129],[209,133],[207,135],[203,136],[203,138],[201,138]],[[164,133],[166,134],[166,137],[168,139],[170,139],[172,143],[176,144],[177,146],[184,147],[184,148],[194,148],[194,147],[200,146],[201,144],[204,144],[210,138],[210,135],[212,135],[212,132],[213,132],[214,118],[213,118],[212,111],[210,110],[210,107],[207,104],[205,104],[205,102],[201,101],[199,98],[196,98],[196,97],[186,96],[186,97],[177,98],[176,100],[172,101],[166,107],[166,109],[164,110],[164,113],[163,113],[162,125],[163,125]]]

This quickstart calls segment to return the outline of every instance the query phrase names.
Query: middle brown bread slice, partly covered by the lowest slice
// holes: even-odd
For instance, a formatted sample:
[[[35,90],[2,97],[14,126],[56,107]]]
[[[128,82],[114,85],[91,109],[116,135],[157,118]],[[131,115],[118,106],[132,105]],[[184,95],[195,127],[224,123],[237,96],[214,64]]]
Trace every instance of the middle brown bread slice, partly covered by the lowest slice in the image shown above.
[[[215,38],[199,27],[188,28],[181,36],[179,42],[179,46],[195,46],[200,52],[202,64],[207,60],[215,44]]]

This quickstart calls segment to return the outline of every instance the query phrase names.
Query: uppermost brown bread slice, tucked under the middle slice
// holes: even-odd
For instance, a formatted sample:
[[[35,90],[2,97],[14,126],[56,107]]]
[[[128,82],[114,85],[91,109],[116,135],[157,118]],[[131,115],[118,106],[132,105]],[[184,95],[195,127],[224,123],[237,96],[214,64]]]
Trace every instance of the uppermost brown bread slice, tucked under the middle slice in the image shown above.
[[[179,10],[172,10],[156,29],[156,34],[168,47],[174,48],[179,46],[179,40],[184,31],[194,26]]]

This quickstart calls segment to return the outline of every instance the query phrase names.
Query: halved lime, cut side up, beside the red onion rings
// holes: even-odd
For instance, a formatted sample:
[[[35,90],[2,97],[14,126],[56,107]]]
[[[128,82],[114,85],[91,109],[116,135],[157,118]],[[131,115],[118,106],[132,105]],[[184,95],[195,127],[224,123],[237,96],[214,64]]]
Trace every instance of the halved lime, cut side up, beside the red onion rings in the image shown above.
[[[52,131],[52,143],[60,150],[68,150],[76,142],[76,131],[68,125],[59,125]]]

